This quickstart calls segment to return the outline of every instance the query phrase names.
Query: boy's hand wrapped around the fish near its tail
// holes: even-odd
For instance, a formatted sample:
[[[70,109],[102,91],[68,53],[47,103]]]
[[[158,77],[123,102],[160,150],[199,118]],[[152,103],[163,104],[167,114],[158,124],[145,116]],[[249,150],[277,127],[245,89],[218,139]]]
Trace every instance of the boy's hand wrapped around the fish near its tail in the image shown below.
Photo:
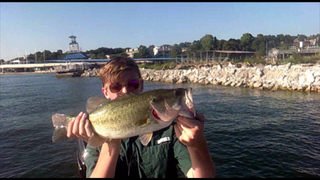
[[[82,139],[88,143],[92,133],[93,130],[86,113],[80,112],[79,115],[68,124],[67,136],[69,138]]]

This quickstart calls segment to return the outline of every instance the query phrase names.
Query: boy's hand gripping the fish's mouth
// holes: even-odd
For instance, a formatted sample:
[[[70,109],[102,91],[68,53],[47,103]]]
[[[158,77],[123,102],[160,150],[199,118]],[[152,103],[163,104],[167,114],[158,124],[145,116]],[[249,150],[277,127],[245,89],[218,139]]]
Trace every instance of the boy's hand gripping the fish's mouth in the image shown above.
[[[206,139],[203,133],[204,115],[196,113],[196,118],[190,119],[178,116],[177,124],[174,125],[179,141],[188,148],[196,150],[207,149]]]

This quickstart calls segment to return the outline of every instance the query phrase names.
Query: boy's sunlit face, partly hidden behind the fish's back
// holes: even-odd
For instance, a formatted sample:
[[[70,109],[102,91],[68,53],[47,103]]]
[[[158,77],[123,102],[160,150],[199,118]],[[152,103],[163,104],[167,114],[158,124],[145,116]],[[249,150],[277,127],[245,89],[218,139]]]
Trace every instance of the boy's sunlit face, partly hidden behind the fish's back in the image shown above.
[[[139,87],[134,88],[132,85],[137,85],[139,81]],[[128,84],[129,83],[129,84]],[[107,99],[114,100],[120,94],[140,94],[143,91],[143,80],[139,78],[138,74],[132,70],[124,70],[117,79],[117,82],[111,85],[111,88],[114,86],[121,87],[119,92],[113,93],[115,90],[110,90],[110,83],[106,83],[104,87],[101,88],[102,93]],[[113,92],[112,92],[113,91]]]

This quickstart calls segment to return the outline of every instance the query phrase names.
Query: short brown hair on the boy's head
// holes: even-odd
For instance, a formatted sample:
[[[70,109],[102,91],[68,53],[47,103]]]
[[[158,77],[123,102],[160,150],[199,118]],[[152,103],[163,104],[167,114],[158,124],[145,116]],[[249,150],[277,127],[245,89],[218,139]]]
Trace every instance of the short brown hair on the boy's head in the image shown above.
[[[115,57],[108,61],[108,63],[99,71],[102,85],[104,86],[106,83],[116,83],[118,76],[124,70],[132,70],[138,74],[139,78],[141,78],[139,67],[133,59]]]

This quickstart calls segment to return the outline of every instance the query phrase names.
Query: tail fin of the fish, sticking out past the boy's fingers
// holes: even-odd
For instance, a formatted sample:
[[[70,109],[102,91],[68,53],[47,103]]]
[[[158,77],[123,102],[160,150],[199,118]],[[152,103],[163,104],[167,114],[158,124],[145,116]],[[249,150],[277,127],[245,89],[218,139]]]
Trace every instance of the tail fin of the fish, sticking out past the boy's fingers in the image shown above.
[[[59,142],[67,137],[67,128],[70,120],[72,119],[71,116],[64,115],[64,114],[53,114],[52,115],[52,124],[54,126],[54,132],[52,135],[52,142]]]

